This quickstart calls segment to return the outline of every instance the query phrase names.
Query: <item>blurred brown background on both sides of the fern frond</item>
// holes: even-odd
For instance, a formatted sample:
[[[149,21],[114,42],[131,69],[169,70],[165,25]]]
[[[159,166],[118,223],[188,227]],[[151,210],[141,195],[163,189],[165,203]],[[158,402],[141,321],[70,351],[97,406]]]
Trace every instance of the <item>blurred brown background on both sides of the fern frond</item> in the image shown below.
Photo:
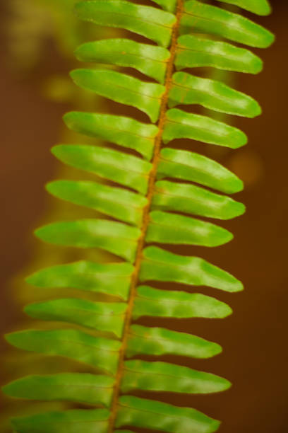
[[[265,69],[259,76],[239,74],[236,82],[237,88],[260,102],[263,115],[236,123],[248,134],[248,146],[213,156],[246,182],[237,199],[248,209],[244,217],[224,224],[235,235],[232,243],[214,250],[195,249],[196,254],[239,277],[246,290],[231,295],[208,289],[205,293],[232,306],[233,316],[176,325],[177,330],[188,330],[224,347],[220,356],[189,365],[227,377],[234,384],[231,390],[215,396],[171,398],[223,420],[221,433],[288,432],[288,4],[286,0],[271,3],[272,16],[255,18],[277,36],[272,48],[256,50]],[[6,9],[2,1],[3,22]],[[56,177],[59,167],[49,148],[59,140],[61,115],[70,109],[41,94],[45,76],[68,72],[70,67],[52,42],[44,47],[40,64],[20,78],[6,62],[6,36],[1,35],[1,333],[14,329],[21,318],[11,296],[11,279],[34,258],[37,241],[32,229],[52,206],[44,183]],[[4,340],[1,349],[6,350]],[[20,360],[21,355],[19,351]]]

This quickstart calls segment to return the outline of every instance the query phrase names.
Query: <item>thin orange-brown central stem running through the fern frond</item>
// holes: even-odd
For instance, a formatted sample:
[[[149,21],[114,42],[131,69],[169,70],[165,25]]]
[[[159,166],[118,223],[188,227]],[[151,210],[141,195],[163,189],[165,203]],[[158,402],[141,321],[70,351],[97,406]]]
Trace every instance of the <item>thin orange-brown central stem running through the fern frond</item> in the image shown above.
[[[148,230],[149,225],[149,212],[152,204],[152,197],[155,190],[155,181],[156,181],[156,174],[157,174],[157,167],[160,160],[160,151],[161,151],[161,144],[162,144],[162,135],[164,132],[164,124],[166,121],[166,112],[168,109],[168,98],[169,98],[169,91],[172,86],[172,75],[174,73],[174,61],[176,56],[176,47],[177,47],[177,39],[179,37],[179,27],[180,27],[180,21],[181,21],[181,15],[183,13],[184,9],[184,0],[177,0],[176,4],[176,21],[174,24],[174,27],[172,29],[172,40],[171,45],[169,48],[170,57],[169,61],[167,62],[167,72],[165,77],[165,91],[162,96],[161,100],[161,106],[160,106],[160,117],[158,121],[158,128],[159,132],[157,136],[155,137],[155,146],[154,146],[154,154],[152,158],[152,170],[150,171],[149,176],[149,182],[148,182],[148,192],[147,192],[147,199],[148,204],[146,205],[144,211],[143,211],[143,223],[141,227],[141,236],[138,241],[138,247],[137,247],[137,253],[136,253],[136,260],[134,263],[135,269],[132,275],[131,279],[131,288],[130,288],[130,294],[128,299],[128,308],[126,311],[126,318],[125,318],[125,324],[124,324],[124,333],[123,333],[123,339],[122,339],[122,346],[119,352],[119,366],[118,371],[116,374],[116,382],[114,386],[114,396],[112,399],[112,406],[111,406],[111,415],[109,420],[109,430],[108,433],[113,433],[114,431],[114,424],[116,420],[117,415],[117,408],[118,408],[118,400],[119,400],[119,394],[120,394],[120,386],[121,386],[121,379],[124,372],[124,362],[126,357],[126,349],[128,344],[128,333],[129,328],[131,326],[132,321],[132,315],[133,315],[133,305],[134,300],[136,298],[136,289],[139,279],[139,272],[140,272],[140,266],[142,261],[142,255],[143,255],[143,248],[145,246],[145,236]]]

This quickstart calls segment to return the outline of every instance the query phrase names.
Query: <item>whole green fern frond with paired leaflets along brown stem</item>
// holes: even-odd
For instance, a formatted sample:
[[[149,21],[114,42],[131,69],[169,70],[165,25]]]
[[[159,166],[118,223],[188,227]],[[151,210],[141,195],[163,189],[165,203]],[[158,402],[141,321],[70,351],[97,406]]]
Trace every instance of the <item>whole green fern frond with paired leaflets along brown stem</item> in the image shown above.
[[[260,15],[270,11],[266,0],[225,2]],[[61,322],[63,328],[54,325],[48,330],[11,333],[8,342],[30,352],[73,359],[87,366],[89,373],[27,376],[5,386],[4,392],[16,398],[65,400],[104,409],[83,410],[73,405],[70,410],[17,417],[13,428],[19,433],[132,433],[117,430],[126,426],[212,433],[220,425],[198,410],[155,400],[158,391],[204,394],[229,388],[229,381],[214,374],[157,361],[158,356],[171,354],[213,357],[221,352],[220,345],[133,322],[143,316],[212,319],[232,313],[214,297],[145,284],[174,282],[188,289],[202,286],[230,293],[243,289],[229,272],[203,258],[172,253],[162,246],[223,245],[232,239],[232,233],[197,217],[227,220],[245,211],[244,204],[226,195],[243,188],[234,173],[206,156],[174,149],[172,141],[186,138],[236,149],[246,144],[246,135],[213,119],[210,111],[204,116],[178,106],[201,105],[245,117],[259,115],[260,107],[253,98],[220,81],[180,70],[214,67],[256,74],[262,62],[255,54],[217,37],[268,47],[273,36],[239,14],[200,1],[155,3],[164,11],[125,0],[76,4],[76,13],[84,21],[123,28],[160,46],[112,38],[87,42],[76,50],[78,59],[99,62],[102,69],[76,69],[71,72],[73,81],[93,94],[142,111],[146,120],[94,112],[64,116],[68,128],[104,139],[116,149],[77,143],[54,146],[56,158],[107,184],[99,179],[56,180],[47,190],[109,219],[54,222],[35,233],[48,243],[101,248],[116,257],[106,264],[83,260],[54,265],[28,277],[38,289],[61,288],[67,293],[76,289],[79,295],[28,305],[25,313],[32,318]],[[129,70],[128,74],[116,71],[116,67],[136,69],[157,83],[131,76]],[[99,298],[82,299],[83,291]],[[145,356],[149,358],[143,359]],[[136,390],[148,391],[151,399],[127,395]]]

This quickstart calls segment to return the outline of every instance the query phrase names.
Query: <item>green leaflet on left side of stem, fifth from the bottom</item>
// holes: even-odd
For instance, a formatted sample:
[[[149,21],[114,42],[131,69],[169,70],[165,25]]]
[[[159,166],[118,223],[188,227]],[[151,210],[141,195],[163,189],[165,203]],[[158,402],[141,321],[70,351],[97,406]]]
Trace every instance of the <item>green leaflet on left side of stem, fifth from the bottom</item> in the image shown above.
[[[39,270],[30,275],[26,282],[40,288],[72,287],[126,300],[133,270],[130,263],[100,264],[82,260]]]

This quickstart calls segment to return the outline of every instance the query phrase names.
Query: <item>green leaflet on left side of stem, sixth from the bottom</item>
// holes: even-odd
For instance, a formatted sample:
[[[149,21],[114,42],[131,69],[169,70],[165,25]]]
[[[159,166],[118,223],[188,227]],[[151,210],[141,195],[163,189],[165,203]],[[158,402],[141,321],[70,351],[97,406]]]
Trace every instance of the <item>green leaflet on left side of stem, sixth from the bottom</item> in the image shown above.
[[[140,229],[106,219],[48,224],[35,231],[42,241],[78,248],[102,248],[133,262]]]

